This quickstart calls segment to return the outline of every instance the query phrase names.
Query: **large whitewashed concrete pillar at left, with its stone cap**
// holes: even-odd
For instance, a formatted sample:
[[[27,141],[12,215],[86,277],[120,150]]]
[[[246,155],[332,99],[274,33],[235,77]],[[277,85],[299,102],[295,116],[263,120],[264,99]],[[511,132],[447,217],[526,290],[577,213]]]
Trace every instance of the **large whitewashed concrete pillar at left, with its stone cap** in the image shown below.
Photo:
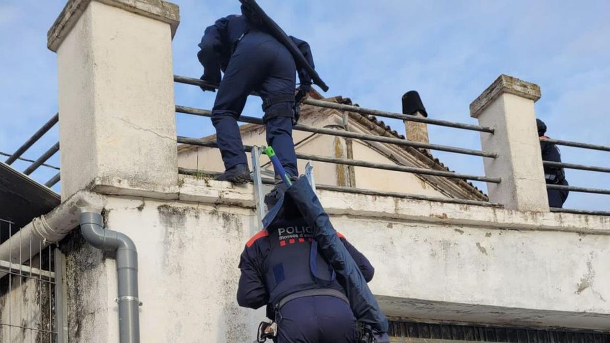
[[[171,39],[178,6],[70,0],[57,52],[62,199],[83,188],[170,197],[178,189]]]

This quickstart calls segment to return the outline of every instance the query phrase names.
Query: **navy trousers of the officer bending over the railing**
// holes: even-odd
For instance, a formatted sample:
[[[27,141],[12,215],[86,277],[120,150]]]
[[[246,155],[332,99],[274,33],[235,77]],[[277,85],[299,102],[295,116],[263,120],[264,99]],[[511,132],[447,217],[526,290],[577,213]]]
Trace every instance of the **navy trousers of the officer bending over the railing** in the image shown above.
[[[216,128],[224,168],[248,163],[237,125],[248,95],[253,91],[259,92],[263,99],[294,95],[295,87],[296,65],[288,49],[264,32],[246,34],[231,56],[212,109],[212,123]],[[267,144],[273,146],[285,170],[298,176],[292,140],[293,107],[294,103],[268,107],[267,113],[281,115],[266,118],[265,128]]]

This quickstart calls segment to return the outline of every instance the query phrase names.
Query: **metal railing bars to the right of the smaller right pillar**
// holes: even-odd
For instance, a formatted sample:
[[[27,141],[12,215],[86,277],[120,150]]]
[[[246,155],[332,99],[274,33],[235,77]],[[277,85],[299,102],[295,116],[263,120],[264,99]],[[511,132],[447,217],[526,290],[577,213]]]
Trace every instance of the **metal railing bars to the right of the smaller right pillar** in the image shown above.
[[[573,148],[583,148],[583,149],[587,149],[587,150],[598,150],[598,151],[610,151],[610,146],[595,145],[595,144],[589,144],[589,143],[570,142],[568,140],[558,140],[558,139],[541,139],[541,141],[552,143],[554,145],[572,146]],[[597,166],[591,166],[591,165],[572,164],[572,163],[564,163],[564,162],[551,162],[551,161],[542,161],[542,164],[547,167],[559,167],[559,168],[576,169],[576,170],[597,171],[600,173],[610,173],[610,168],[608,168],[608,167],[597,167]],[[610,195],[610,189],[598,189],[598,188],[578,187],[578,186],[564,186],[561,184],[547,184],[547,189],[569,190],[570,192]],[[610,215],[610,212],[606,212],[606,211],[588,211],[588,210],[581,210],[581,209],[551,208],[551,211],[574,213],[574,214]]]

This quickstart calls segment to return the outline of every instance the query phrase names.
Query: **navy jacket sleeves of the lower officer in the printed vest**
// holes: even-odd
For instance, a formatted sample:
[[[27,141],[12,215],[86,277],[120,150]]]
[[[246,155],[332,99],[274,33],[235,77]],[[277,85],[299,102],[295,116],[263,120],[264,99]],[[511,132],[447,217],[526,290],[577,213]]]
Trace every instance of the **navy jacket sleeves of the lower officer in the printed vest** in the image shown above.
[[[368,259],[353,245],[351,245],[342,234],[337,233],[345,248],[356,261],[367,282],[373,280],[375,269]],[[242,275],[239,278],[239,288],[237,289],[237,302],[240,306],[257,309],[268,304],[269,291],[265,284],[264,270],[265,259],[271,251],[271,243],[267,230],[262,230],[254,235],[243,250],[239,268]],[[335,281],[337,282],[337,281]],[[337,287],[340,287],[337,284]]]

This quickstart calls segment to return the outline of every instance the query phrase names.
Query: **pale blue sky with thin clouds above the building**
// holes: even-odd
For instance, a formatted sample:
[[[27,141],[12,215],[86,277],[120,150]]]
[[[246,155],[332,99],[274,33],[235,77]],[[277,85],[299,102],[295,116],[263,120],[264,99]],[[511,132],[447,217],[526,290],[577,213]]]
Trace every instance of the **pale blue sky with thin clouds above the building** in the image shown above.
[[[239,2],[177,0],[181,24],[174,38],[176,74],[202,70],[197,43],[206,26]],[[536,104],[557,139],[610,145],[610,13],[608,1],[259,0],[285,31],[312,46],[328,96],[350,97],[364,107],[400,112],[408,90],[420,92],[431,118],[476,123],[468,105],[499,74],[539,84]],[[0,151],[12,153],[57,112],[56,56],[46,32],[63,0],[0,2]],[[212,93],[176,85],[176,103],[210,108]],[[260,100],[245,113],[260,116]],[[178,133],[213,132],[205,118],[178,114]],[[386,120],[404,132],[402,123]],[[480,148],[477,132],[430,126],[432,143]],[[54,128],[26,157],[40,156],[58,140]],[[610,166],[609,153],[562,147],[564,162]],[[480,157],[434,153],[450,168],[483,175]],[[0,156],[4,161],[5,157]],[[59,165],[59,156],[50,161]],[[18,162],[17,168],[27,166]],[[34,179],[56,173],[40,168]],[[568,170],[573,186],[610,188],[610,175]],[[484,188],[483,184],[479,186]],[[569,208],[610,208],[610,196],[570,194]]]

